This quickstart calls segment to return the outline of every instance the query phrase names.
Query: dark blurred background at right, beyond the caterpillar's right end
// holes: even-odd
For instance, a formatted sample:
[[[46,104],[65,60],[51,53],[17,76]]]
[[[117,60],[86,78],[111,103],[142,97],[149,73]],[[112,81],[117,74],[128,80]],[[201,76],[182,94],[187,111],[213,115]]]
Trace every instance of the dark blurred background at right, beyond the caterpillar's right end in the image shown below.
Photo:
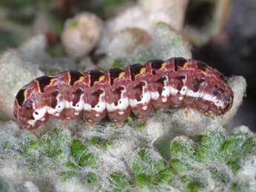
[[[194,47],[195,59],[217,67],[226,76],[244,76],[246,98],[234,117],[234,125],[256,130],[256,1],[230,1],[229,18],[220,34],[203,47]]]

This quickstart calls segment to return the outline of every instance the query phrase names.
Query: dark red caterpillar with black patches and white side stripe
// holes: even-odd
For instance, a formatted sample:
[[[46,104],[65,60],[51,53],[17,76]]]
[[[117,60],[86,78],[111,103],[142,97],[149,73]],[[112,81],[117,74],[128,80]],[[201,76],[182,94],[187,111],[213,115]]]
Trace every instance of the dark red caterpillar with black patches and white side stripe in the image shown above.
[[[220,116],[232,107],[233,98],[218,70],[204,62],[176,57],[104,72],[69,70],[40,76],[19,90],[13,113],[28,130],[45,124],[50,116],[76,119],[82,114],[90,128],[107,115],[122,126],[131,112],[146,119],[151,110],[169,106]]]

